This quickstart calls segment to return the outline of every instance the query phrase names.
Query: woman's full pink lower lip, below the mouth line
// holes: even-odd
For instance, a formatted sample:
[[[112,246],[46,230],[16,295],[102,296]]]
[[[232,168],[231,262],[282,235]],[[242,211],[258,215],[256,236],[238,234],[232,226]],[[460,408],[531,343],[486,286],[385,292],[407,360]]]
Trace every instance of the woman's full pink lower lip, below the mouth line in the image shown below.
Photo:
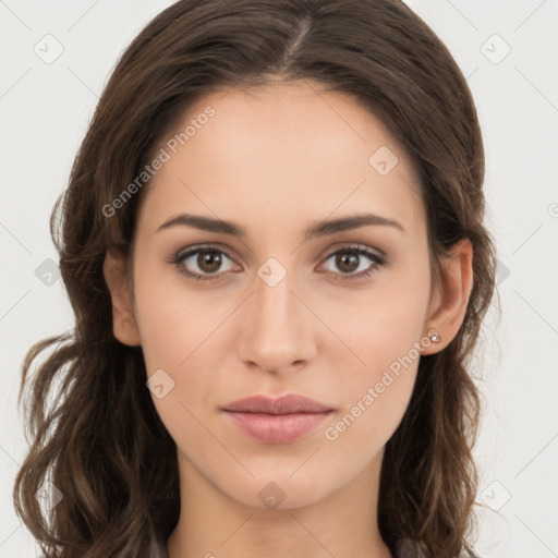
[[[325,413],[236,413],[226,411],[242,430],[260,441],[286,444],[316,428],[331,411]]]

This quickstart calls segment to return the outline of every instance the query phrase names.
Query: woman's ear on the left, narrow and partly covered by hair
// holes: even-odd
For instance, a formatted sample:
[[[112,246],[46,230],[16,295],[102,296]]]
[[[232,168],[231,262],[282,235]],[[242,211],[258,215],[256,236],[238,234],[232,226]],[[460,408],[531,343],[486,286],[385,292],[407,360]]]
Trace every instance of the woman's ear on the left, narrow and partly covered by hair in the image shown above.
[[[140,345],[140,331],[133,312],[124,259],[107,252],[102,265],[102,275],[112,300],[112,330],[114,337],[123,344]]]

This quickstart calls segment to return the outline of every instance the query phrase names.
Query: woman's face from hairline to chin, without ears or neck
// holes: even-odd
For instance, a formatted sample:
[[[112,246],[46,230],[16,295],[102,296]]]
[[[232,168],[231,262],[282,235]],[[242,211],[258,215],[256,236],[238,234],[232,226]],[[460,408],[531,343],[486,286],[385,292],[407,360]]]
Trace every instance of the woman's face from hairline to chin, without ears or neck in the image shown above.
[[[134,238],[151,397],[191,477],[256,508],[264,488],[281,508],[308,506],[381,462],[429,342],[412,161],[354,99],[317,84],[207,94],[179,133],[189,124],[183,145],[161,144]],[[223,411],[254,395],[329,411]]]

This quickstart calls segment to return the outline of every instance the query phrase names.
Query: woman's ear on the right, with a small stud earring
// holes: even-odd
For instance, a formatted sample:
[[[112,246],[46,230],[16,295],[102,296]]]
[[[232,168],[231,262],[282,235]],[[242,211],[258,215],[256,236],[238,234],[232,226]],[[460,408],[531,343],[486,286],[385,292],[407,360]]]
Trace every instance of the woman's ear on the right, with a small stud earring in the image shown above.
[[[428,308],[425,331],[437,331],[440,341],[432,342],[422,354],[441,351],[457,336],[463,318],[471,290],[473,289],[473,245],[462,239],[450,250],[448,257],[440,262],[441,284],[436,288]]]

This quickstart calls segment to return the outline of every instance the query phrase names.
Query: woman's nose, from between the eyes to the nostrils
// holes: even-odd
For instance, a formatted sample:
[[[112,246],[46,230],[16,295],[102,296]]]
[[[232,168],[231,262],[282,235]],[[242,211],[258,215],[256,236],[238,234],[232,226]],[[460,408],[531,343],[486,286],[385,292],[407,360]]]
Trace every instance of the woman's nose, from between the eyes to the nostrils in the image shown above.
[[[316,353],[317,319],[302,302],[292,275],[270,286],[254,279],[242,315],[239,356],[252,368],[281,373],[300,369]]]

